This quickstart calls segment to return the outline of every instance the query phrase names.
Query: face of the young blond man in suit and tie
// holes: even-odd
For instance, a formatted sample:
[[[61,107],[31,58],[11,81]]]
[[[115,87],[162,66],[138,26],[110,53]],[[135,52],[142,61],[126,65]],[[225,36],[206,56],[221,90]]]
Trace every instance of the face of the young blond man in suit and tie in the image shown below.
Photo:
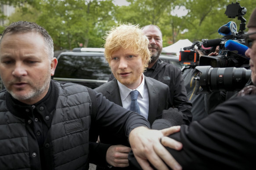
[[[144,62],[132,49],[113,52],[109,65],[115,78],[126,87],[135,89],[141,84]]]

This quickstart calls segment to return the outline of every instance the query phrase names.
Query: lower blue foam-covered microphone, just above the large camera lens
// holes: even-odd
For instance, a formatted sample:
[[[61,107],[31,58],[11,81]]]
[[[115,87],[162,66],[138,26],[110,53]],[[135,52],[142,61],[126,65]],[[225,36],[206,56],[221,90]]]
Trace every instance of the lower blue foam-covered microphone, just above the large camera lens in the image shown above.
[[[245,51],[248,49],[246,45],[235,42],[233,40],[227,40],[227,42],[225,43],[225,48],[242,56],[245,56]]]

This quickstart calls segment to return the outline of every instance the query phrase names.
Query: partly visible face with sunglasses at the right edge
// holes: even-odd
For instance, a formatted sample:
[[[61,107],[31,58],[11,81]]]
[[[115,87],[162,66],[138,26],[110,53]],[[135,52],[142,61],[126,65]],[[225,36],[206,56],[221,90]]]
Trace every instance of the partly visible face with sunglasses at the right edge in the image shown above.
[[[253,32],[256,32],[256,28],[249,28],[248,34]],[[249,38],[254,41],[252,42],[252,47],[246,50],[245,55],[250,58],[252,83],[256,85],[256,34],[249,35]]]

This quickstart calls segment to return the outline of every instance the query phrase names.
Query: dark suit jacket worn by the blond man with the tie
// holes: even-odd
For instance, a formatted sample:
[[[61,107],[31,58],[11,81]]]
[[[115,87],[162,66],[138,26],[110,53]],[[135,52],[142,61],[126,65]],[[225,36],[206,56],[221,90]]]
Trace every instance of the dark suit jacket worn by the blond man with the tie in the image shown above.
[[[145,84],[148,87],[149,97],[148,121],[150,125],[152,125],[155,119],[162,118],[162,111],[169,108],[169,87],[164,83],[146,76]],[[109,101],[123,107],[116,79],[94,90],[98,93],[102,93]]]

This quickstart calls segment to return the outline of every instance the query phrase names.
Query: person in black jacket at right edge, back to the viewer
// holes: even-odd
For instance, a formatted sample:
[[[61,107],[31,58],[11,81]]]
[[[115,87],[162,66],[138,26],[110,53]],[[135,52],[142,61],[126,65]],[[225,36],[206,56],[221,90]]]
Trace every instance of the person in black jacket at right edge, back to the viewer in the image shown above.
[[[252,12],[245,45],[250,58],[251,79],[254,85],[245,87],[234,97],[218,105],[213,114],[201,121],[182,125],[180,132],[162,137],[161,142],[183,170],[252,170],[256,158],[256,8]],[[169,149],[177,141],[183,149]],[[130,160],[132,156],[130,154]],[[175,159],[175,160],[174,160]],[[136,164],[136,163],[134,163]]]

